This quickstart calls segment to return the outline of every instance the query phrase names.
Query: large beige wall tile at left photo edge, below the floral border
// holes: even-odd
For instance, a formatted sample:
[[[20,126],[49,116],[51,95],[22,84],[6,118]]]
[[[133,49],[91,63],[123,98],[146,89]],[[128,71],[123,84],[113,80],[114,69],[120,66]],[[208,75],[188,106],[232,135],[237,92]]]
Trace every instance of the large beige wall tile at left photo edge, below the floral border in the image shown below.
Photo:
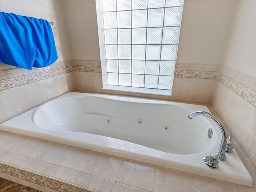
[[[1,123],[24,113],[15,88],[1,91]]]

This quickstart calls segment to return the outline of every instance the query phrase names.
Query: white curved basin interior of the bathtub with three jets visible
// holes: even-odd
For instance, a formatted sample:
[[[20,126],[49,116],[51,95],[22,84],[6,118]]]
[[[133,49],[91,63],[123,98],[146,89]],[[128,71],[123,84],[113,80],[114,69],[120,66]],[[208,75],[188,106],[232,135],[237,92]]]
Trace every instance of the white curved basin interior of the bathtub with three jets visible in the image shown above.
[[[191,112],[170,103],[64,97],[40,106],[33,121],[42,129],[102,135],[172,154],[196,154],[213,146],[218,127],[208,138],[208,129],[215,124],[202,116],[190,120]]]

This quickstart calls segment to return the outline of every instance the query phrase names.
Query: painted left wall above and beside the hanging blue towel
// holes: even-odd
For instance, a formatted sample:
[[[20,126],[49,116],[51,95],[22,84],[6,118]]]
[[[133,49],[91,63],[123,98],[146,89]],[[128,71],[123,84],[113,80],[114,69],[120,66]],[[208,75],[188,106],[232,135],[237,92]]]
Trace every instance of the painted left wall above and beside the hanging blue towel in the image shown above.
[[[58,53],[57,61],[72,59],[63,2],[58,0],[1,0],[0,10],[54,22],[52,32]],[[2,67],[2,65],[1,65]]]

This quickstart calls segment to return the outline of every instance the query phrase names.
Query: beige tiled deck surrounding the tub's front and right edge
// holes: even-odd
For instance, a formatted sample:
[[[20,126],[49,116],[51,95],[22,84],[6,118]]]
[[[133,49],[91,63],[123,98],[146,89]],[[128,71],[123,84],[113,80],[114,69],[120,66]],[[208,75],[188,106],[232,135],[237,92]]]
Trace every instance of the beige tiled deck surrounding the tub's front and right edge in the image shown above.
[[[1,131],[1,177],[44,192],[255,192],[249,188],[92,150]]]

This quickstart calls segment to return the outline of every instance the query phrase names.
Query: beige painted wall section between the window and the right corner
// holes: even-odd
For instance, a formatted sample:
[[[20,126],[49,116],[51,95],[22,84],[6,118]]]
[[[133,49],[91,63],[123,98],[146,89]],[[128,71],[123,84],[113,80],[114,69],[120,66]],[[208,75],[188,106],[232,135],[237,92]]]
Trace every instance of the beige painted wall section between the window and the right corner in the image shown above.
[[[177,63],[221,64],[234,1],[185,0]]]

